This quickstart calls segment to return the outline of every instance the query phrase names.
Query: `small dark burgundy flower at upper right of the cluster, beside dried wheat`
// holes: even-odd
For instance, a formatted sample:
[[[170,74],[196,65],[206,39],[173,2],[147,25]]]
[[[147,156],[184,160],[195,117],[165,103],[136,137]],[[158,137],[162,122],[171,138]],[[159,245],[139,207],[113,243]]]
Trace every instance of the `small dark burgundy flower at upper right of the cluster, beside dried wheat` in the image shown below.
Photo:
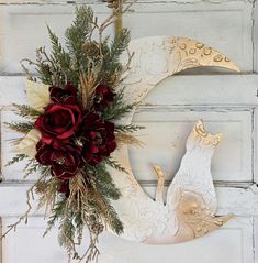
[[[94,95],[94,110],[102,111],[104,107],[109,106],[114,100],[115,94],[106,85],[99,85],[96,88]]]

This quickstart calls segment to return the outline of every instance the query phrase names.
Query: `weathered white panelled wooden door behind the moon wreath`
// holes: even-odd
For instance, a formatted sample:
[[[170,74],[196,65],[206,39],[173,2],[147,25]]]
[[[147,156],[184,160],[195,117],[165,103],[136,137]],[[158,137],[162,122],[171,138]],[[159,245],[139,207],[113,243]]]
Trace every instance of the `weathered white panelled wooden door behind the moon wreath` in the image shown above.
[[[86,1],[81,1],[86,2]],[[100,18],[109,10],[93,2]],[[154,196],[156,177],[150,164],[159,163],[170,180],[179,167],[184,141],[192,124],[202,118],[212,132],[223,132],[213,160],[218,213],[235,219],[205,238],[166,246],[131,243],[109,233],[100,240],[100,263],[258,263],[258,9],[254,0],[141,1],[124,18],[132,37],[179,35],[197,39],[231,57],[243,70],[226,74],[198,69],[159,84],[135,113],[134,122],[145,147],[131,149],[138,180]],[[34,57],[38,45],[48,45],[45,23],[61,35],[70,23],[74,4],[63,0],[0,0],[0,109],[1,123],[14,117],[12,102],[25,101],[19,61]],[[112,34],[112,29],[110,31]],[[194,76],[193,76],[194,75]],[[158,134],[158,136],[157,136]],[[7,140],[15,136],[1,125],[0,216],[2,227],[25,209],[25,189],[35,179],[22,182],[22,164],[4,167],[12,152]],[[31,217],[1,244],[2,263],[63,263],[65,253],[57,231],[42,239],[41,212]]]

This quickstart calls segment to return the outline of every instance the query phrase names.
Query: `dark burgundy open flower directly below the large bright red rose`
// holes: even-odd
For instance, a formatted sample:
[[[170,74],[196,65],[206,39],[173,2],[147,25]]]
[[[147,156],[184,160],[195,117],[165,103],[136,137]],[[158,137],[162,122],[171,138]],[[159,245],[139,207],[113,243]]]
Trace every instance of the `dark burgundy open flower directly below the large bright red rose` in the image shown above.
[[[36,161],[51,166],[52,175],[57,178],[69,179],[83,166],[81,149],[78,145],[60,144],[58,149],[40,141],[36,150]]]

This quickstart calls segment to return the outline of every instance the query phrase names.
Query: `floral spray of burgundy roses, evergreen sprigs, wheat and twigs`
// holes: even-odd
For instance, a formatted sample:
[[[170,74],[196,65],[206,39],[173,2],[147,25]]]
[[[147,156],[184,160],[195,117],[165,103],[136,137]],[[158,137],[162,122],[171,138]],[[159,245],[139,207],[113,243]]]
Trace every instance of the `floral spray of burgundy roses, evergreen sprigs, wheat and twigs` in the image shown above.
[[[128,53],[128,63],[120,63],[130,32],[121,29],[113,40],[103,36],[130,6],[124,8],[120,0],[109,0],[108,6],[112,14],[100,24],[89,7],[78,7],[66,30],[65,46],[48,28],[52,52],[41,47],[35,62],[22,61],[30,106],[13,105],[13,110],[24,121],[7,123],[24,134],[16,141],[19,153],[8,165],[26,160],[25,176],[38,172],[40,178],[26,193],[27,211],[3,237],[27,221],[36,193],[38,209],[44,207],[48,217],[44,234],[59,223],[59,243],[69,259],[86,262],[97,259],[98,237],[106,227],[117,234],[123,232],[112,207],[121,193],[108,167],[126,173],[111,154],[123,143],[137,144],[133,132],[141,129],[119,124],[135,107],[124,101],[121,87],[133,56]],[[36,77],[25,63],[34,66]],[[79,255],[77,245],[82,242],[85,227],[90,245]]]

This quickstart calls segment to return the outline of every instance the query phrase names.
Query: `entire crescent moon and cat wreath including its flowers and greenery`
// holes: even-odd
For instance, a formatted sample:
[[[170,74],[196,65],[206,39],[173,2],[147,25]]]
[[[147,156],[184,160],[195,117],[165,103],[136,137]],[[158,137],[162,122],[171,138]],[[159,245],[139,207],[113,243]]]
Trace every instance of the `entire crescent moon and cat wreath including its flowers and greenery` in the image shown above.
[[[29,105],[12,108],[22,120],[5,123],[23,134],[14,140],[16,155],[7,165],[26,161],[25,177],[38,172],[38,178],[26,190],[27,210],[2,237],[27,221],[36,194],[37,209],[44,208],[48,220],[44,234],[58,223],[59,244],[69,260],[78,262],[98,257],[98,237],[104,229],[132,241],[171,244],[204,235],[232,217],[215,216],[211,158],[222,134],[212,135],[201,120],[197,122],[166,201],[161,167],[154,165],[158,185],[153,200],[133,174],[128,144],[138,143],[133,132],[141,127],[132,123],[137,105],[165,78],[200,66],[239,68],[190,39],[130,42],[126,29],[112,40],[104,37],[104,30],[131,7],[106,2],[112,12],[100,24],[89,7],[76,9],[65,45],[48,28],[52,53],[41,47],[36,62],[22,61],[38,73],[33,76],[22,64]],[[89,245],[80,255],[77,248],[83,242],[85,227]]]

